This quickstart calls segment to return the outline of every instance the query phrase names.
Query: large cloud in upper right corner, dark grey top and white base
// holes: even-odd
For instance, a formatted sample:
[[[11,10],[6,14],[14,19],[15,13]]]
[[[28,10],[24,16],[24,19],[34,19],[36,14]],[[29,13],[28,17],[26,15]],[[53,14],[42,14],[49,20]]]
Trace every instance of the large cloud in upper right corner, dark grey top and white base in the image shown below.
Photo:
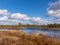
[[[47,9],[47,15],[53,16],[55,18],[60,18],[60,0],[49,3],[49,7]]]

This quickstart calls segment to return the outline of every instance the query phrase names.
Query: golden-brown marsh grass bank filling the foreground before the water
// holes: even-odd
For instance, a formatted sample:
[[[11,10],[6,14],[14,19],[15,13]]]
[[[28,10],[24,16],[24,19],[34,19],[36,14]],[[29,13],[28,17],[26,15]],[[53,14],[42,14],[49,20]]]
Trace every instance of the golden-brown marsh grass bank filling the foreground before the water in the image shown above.
[[[0,31],[0,45],[60,45],[60,42],[43,34],[27,34],[11,30]]]

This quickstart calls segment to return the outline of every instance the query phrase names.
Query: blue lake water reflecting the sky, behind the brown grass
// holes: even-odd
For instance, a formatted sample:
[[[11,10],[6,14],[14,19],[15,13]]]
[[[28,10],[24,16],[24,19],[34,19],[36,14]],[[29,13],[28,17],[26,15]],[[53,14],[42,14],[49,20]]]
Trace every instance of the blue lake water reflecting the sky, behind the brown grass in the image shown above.
[[[52,37],[59,37],[60,38],[60,30],[42,30],[42,29],[37,29],[37,28],[26,28],[24,30],[21,30],[26,33],[32,33],[35,32],[36,34],[45,34],[47,36],[52,36]]]

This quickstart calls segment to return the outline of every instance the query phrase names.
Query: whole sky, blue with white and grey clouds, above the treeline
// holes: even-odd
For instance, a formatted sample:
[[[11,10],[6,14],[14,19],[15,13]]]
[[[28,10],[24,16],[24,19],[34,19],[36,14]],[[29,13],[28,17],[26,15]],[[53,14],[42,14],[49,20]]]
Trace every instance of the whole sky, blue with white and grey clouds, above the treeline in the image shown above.
[[[60,0],[0,0],[0,24],[60,24]]]

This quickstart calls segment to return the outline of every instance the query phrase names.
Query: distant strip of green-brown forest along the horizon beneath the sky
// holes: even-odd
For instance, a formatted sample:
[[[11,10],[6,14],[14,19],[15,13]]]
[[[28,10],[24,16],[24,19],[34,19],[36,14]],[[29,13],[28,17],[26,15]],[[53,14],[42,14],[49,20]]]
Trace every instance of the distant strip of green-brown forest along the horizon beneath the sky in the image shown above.
[[[36,25],[36,24],[21,24],[16,25],[0,25],[0,28],[60,28],[60,24],[47,24],[47,25]]]

